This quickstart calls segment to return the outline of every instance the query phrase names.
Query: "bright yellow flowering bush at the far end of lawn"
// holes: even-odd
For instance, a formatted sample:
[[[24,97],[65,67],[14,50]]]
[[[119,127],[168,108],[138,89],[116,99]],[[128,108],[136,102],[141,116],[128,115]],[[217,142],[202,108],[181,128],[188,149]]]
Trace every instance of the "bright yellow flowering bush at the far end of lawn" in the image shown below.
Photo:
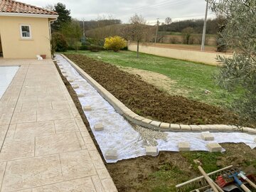
[[[126,41],[119,36],[113,36],[105,38],[104,48],[108,50],[114,50],[114,52],[119,51],[120,49],[126,46]]]

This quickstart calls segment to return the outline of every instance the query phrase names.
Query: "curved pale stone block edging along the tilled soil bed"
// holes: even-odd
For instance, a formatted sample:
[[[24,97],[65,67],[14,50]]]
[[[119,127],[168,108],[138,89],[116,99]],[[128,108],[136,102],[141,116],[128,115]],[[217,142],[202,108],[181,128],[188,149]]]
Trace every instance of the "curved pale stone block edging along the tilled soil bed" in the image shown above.
[[[256,134],[256,129],[252,129],[249,127],[237,127],[234,125],[226,125],[226,124],[203,124],[203,125],[196,125],[196,124],[169,124],[166,122],[157,122],[151,119],[146,119],[138,114],[132,112],[128,107],[126,107],[122,102],[120,102],[114,95],[108,92],[102,85],[100,85],[97,81],[90,77],[85,71],[78,67],[72,60],[67,58],[65,55],[60,54],[68,60],[70,65],[78,71],[78,73],[87,80],[87,82],[94,87],[97,92],[102,95],[102,97],[110,102],[110,104],[114,107],[119,114],[122,114],[125,118],[129,121],[133,122],[134,124],[141,125],[143,127],[147,127],[149,129],[155,129],[164,132],[247,132],[250,134]]]

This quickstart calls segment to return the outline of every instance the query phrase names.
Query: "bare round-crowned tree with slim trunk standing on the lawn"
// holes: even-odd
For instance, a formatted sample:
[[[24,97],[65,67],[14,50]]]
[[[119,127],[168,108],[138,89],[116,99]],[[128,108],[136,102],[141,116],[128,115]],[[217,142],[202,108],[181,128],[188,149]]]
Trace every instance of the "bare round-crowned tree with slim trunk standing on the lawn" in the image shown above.
[[[137,58],[139,58],[139,42],[148,35],[146,20],[135,14],[129,19],[129,25],[123,28],[123,37],[127,40],[137,41]]]

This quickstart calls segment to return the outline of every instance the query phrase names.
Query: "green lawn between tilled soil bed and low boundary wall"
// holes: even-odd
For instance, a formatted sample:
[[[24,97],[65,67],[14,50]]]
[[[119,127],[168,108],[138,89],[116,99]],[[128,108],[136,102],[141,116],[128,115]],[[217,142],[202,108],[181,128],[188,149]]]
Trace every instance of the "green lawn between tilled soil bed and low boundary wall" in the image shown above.
[[[239,92],[230,94],[230,92],[216,85],[213,76],[218,73],[218,67],[215,66],[144,53],[140,53],[139,58],[136,58],[136,53],[132,51],[120,51],[119,53],[101,51],[95,53],[80,50],[78,52],[68,51],[68,53],[87,55],[90,58],[124,68],[137,68],[161,73],[176,81],[172,88],[179,90],[178,92],[183,92],[183,96],[210,105],[228,107],[230,102],[239,96]],[[211,93],[206,95],[205,90],[210,90]]]

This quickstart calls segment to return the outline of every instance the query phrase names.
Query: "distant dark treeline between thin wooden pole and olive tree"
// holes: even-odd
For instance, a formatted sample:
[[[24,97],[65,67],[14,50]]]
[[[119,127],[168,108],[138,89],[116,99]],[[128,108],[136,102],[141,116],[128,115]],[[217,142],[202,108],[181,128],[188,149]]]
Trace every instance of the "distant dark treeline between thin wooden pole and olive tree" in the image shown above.
[[[193,33],[202,33],[203,31],[203,19],[191,19],[185,21],[176,21],[169,25],[164,23],[159,26],[159,31],[174,31],[182,32],[184,28],[193,28]],[[218,33],[218,19],[208,19],[206,25],[207,34],[217,34]]]

